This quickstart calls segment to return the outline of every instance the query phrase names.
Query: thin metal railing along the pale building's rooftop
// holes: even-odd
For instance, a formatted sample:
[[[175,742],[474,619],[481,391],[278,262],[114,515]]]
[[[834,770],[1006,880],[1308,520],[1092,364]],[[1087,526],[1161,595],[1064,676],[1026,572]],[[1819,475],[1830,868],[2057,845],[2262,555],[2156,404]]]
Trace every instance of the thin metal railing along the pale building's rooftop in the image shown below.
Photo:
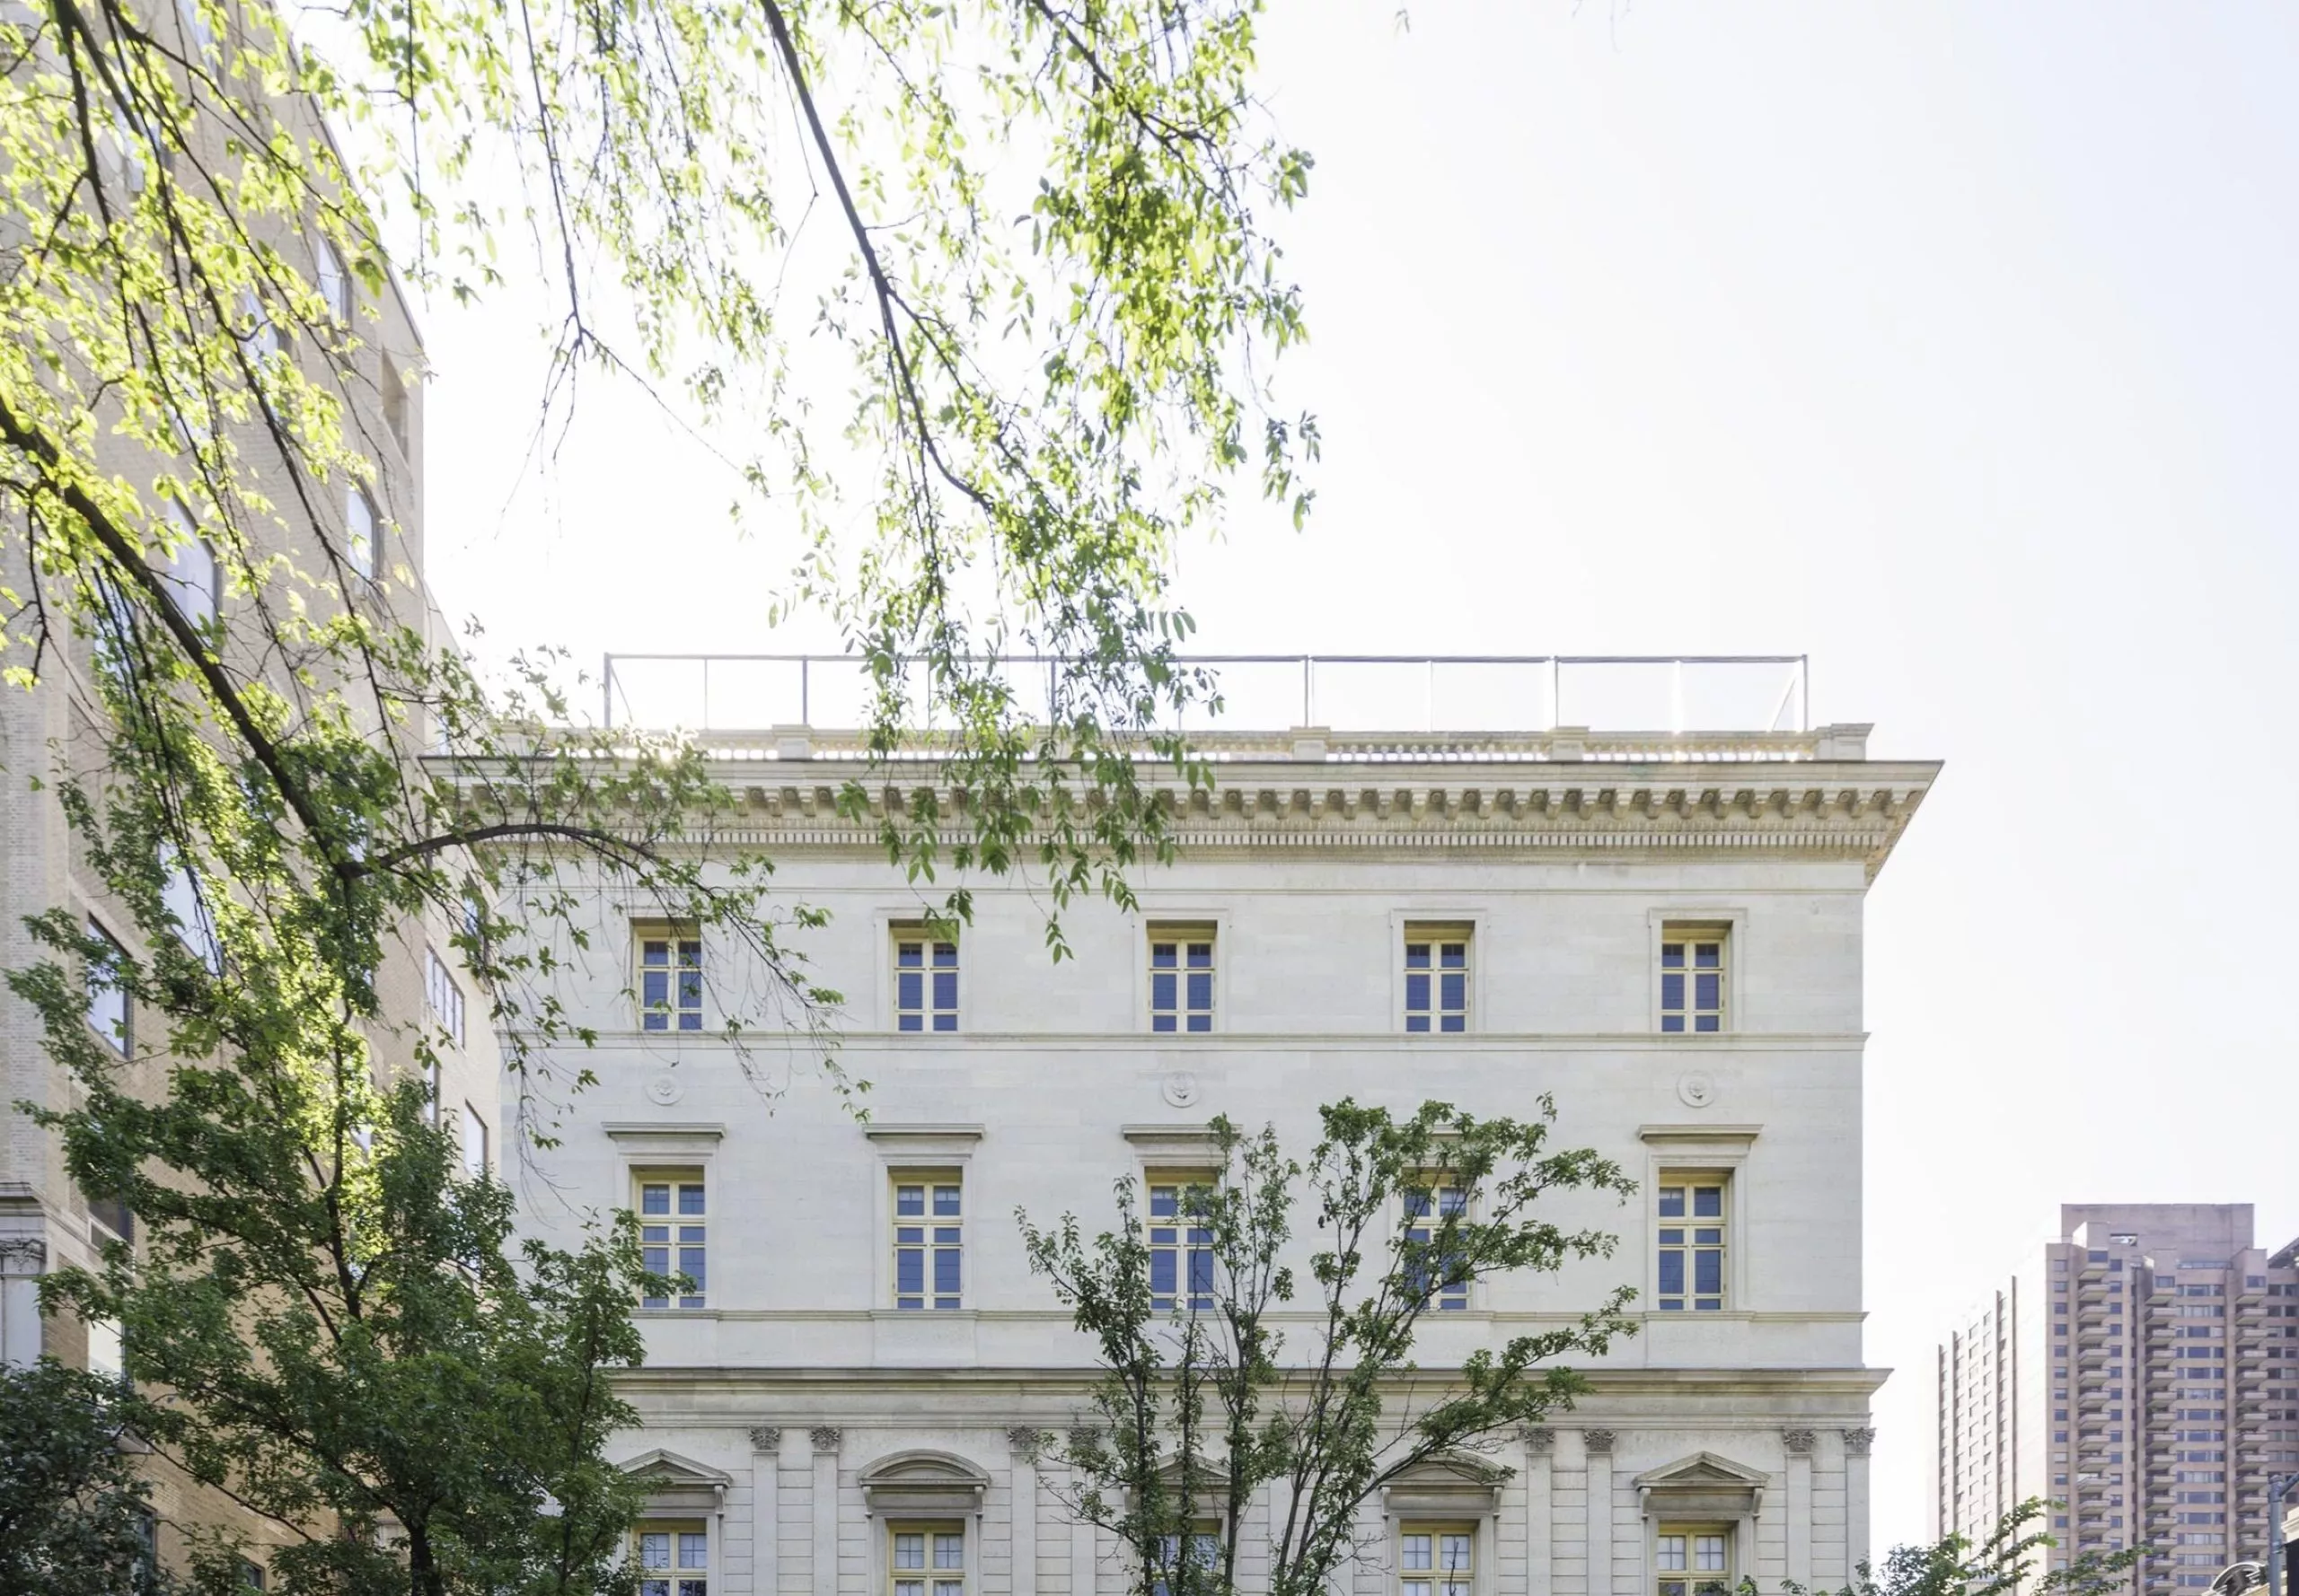
[[[1046,714],[1060,664],[1046,654],[998,661],[1023,714]],[[1812,730],[1807,654],[1182,654],[1175,664],[1209,668],[1223,696],[1218,716],[1182,716],[1177,728],[1191,733]],[[922,689],[924,668],[904,668],[908,687]],[[869,689],[853,654],[607,654],[602,714],[607,726],[662,730],[851,730],[867,723]]]

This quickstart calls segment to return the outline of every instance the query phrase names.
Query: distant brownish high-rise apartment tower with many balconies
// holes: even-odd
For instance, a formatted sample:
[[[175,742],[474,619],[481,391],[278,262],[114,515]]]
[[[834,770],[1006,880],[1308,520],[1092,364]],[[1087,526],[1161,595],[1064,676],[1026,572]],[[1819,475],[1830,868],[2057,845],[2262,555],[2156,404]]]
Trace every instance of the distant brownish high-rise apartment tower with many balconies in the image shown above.
[[[2299,1242],[2260,1249],[2251,1203],[2067,1203],[1933,1380],[1933,1534],[2042,1497],[2046,1566],[2150,1545],[2131,1589],[2209,1589],[2299,1472]]]

